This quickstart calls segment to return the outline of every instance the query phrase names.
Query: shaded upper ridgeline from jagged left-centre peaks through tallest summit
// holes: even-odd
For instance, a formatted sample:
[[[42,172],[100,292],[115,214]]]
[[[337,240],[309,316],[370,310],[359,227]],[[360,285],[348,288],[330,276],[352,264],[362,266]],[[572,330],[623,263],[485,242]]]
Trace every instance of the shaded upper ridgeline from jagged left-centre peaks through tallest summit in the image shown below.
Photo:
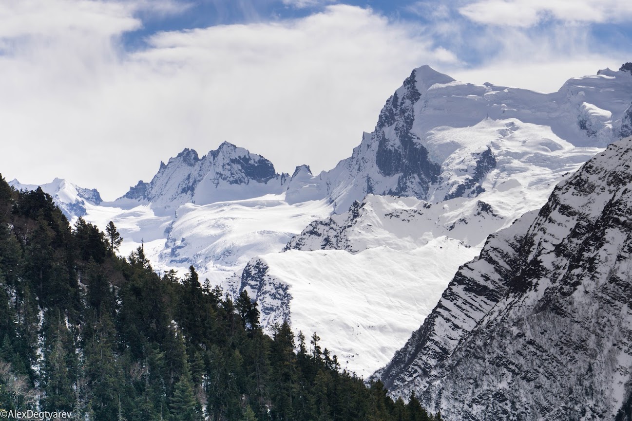
[[[161,163],[152,181],[138,182],[119,201],[145,201],[160,210],[184,203],[205,205],[286,193],[288,203],[327,198],[336,211],[343,212],[366,194],[446,200],[476,196],[483,191],[487,172],[496,168],[502,145],[495,144],[489,134],[485,141],[471,138],[468,142],[459,137],[474,134],[477,138],[479,133],[448,134],[446,128],[465,129],[486,119],[516,119],[549,126],[552,133],[545,134],[542,141],[546,142],[540,143],[553,146],[551,151],[560,148],[554,145],[556,138],[574,146],[605,146],[630,130],[631,78],[626,71],[605,69],[596,76],[571,79],[559,92],[544,94],[490,83],[462,83],[422,66],[386,101],[375,130],[365,133],[351,157],[334,169],[313,175],[307,165],[301,165],[291,176],[277,174],[261,155],[224,142],[202,158],[194,150],[183,150]],[[446,134],[450,141],[442,139]],[[466,148],[454,155],[459,146]],[[540,148],[538,152],[546,151]],[[463,172],[469,174],[464,177]]]

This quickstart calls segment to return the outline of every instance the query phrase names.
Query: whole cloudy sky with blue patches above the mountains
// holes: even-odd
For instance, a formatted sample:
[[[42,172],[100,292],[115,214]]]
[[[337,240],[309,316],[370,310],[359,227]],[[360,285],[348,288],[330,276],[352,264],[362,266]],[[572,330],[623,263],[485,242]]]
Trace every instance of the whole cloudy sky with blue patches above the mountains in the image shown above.
[[[112,200],[223,141],[316,174],[413,68],[554,92],[632,61],[629,0],[3,0],[0,173]]]

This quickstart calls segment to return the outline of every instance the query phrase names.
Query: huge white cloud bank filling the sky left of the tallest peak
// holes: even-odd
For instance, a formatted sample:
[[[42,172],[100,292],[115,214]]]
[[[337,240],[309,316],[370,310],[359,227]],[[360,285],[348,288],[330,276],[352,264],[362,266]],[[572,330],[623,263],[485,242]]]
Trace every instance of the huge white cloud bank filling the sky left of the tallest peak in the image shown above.
[[[110,199],[183,148],[203,154],[224,140],[277,170],[329,169],[412,68],[455,59],[416,28],[351,6],[159,33],[134,54],[119,44],[141,24],[130,3],[2,7],[0,171],[23,182],[66,177]]]

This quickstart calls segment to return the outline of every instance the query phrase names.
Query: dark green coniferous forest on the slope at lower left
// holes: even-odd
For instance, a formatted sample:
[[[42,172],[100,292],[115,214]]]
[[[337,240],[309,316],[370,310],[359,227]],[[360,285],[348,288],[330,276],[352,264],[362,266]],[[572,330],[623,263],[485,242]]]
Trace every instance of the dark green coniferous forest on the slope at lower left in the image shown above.
[[[440,420],[341,370],[316,333],[272,338],[245,292],[159,276],[0,176],[0,408],[77,420]],[[204,285],[204,286],[203,286]]]

